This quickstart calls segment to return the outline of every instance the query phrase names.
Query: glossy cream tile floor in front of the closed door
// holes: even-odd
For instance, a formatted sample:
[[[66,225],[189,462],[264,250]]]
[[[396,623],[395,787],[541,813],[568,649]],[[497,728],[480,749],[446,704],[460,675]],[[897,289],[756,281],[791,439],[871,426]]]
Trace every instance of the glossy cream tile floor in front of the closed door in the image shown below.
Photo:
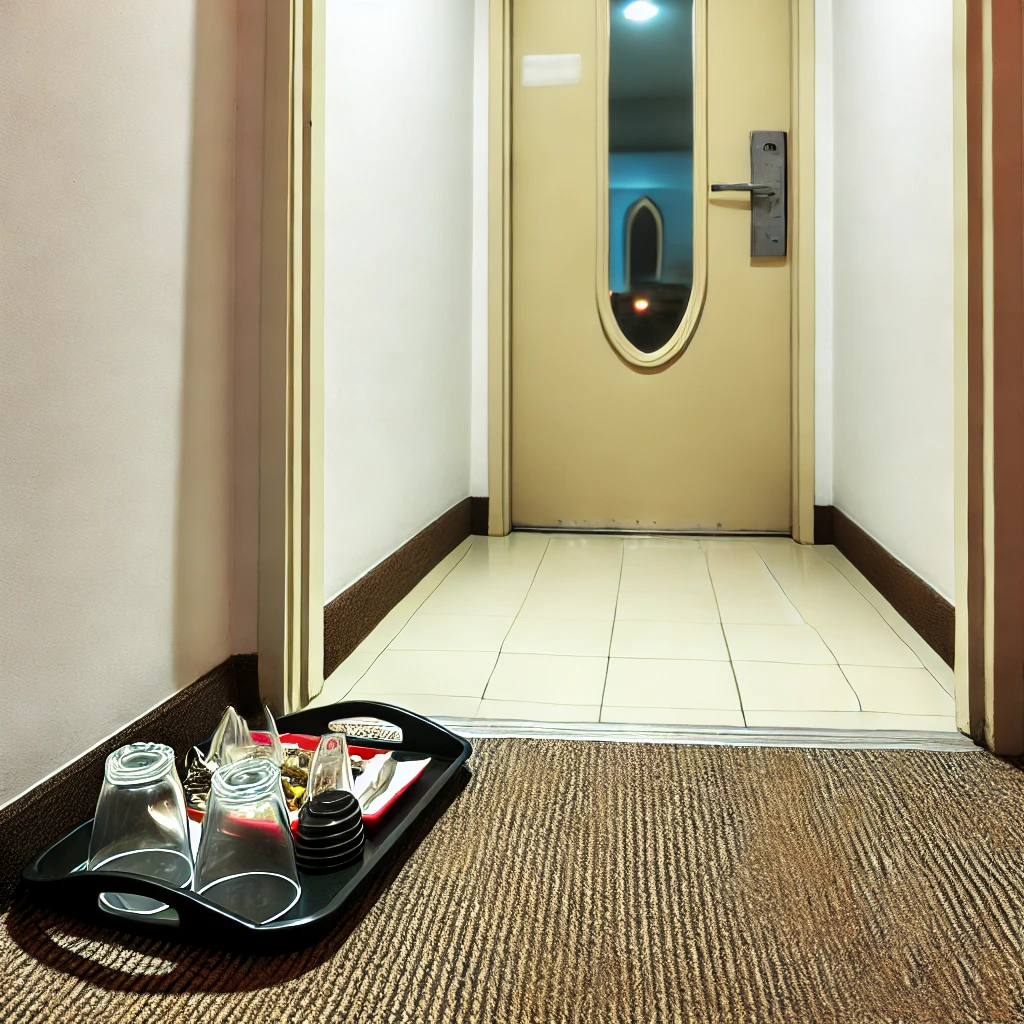
[[[474,537],[327,681],[432,716],[955,731],[951,671],[834,547]]]

